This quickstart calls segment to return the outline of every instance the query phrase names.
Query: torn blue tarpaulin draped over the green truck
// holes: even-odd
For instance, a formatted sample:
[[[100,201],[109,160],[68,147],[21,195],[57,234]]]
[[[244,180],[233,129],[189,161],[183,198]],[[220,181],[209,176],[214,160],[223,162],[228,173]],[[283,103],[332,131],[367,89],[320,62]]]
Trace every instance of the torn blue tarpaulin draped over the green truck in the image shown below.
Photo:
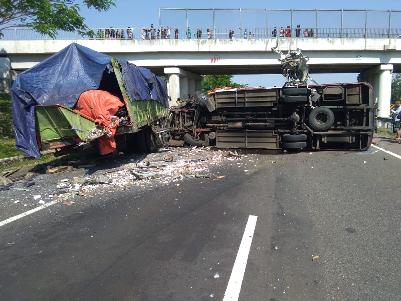
[[[157,100],[168,106],[164,80],[149,69],[117,59],[131,101]],[[77,43],[17,75],[12,88],[15,147],[38,159],[34,106],[73,108],[82,92],[99,89],[103,71],[113,72],[111,57]]]

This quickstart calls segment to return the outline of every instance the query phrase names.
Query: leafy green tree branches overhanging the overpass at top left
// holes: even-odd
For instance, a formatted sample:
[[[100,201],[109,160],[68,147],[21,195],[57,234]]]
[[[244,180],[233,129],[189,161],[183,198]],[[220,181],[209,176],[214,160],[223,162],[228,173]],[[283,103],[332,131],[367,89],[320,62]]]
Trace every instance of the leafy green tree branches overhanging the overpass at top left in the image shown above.
[[[0,37],[10,27],[28,27],[52,39],[57,31],[77,31],[93,37],[79,12],[81,7],[99,12],[115,6],[113,0],[0,0]]]

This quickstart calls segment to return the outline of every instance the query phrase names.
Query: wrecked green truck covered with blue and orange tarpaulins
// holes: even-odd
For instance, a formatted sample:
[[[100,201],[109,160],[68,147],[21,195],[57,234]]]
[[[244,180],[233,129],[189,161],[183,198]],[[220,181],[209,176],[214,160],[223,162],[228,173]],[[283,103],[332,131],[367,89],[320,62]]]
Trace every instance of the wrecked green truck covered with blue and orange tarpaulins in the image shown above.
[[[76,43],[18,74],[11,98],[16,148],[37,159],[156,152],[168,110],[164,79]]]

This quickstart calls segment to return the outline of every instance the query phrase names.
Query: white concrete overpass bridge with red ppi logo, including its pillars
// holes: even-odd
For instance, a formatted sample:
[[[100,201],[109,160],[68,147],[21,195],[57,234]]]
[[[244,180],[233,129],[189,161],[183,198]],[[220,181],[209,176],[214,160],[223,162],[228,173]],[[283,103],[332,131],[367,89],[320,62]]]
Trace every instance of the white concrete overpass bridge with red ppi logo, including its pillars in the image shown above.
[[[281,73],[278,55],[271,51],[275,39],[1,40],[4,88],[10,87],[12,74],[72,42],[147,67],[156,75],[167,75],[173,102],[201,88],[199,75]],[[373,85],[379,106],[389,106],[391,73],[401,73],[401,39],[279,39],[277,50],[286,53],[298,47],[310,57],[311,73],[361,73],[361,79]],[[380,114],[386,115],[387,110]]]

